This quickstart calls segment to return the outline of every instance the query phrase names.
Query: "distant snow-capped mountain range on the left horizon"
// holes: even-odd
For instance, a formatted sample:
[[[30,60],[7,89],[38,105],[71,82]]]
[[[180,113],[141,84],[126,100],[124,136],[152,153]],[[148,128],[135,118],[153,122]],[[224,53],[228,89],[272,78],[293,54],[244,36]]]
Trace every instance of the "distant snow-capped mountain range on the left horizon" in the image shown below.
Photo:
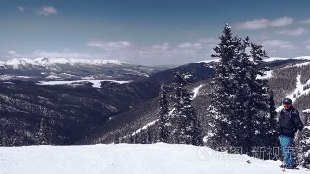
[[[131,65],[119,60],[84,60],[71,58],[14,58],[0,62],[0,80],[27,79],[32,81],[118,79],[133,80],[169,67]]]

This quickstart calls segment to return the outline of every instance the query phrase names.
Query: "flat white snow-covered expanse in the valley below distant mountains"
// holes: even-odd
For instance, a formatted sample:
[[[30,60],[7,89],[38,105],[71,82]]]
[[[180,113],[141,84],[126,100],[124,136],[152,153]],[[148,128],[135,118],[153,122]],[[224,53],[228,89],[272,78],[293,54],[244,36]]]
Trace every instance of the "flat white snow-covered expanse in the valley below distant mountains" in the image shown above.
[[[129,81],[119,81],[119,80],[71,80],[71,81],[65,81],[65,80],[60,80],[60,81],[40,81],[40,83],[37,83],[37,84],[40,84],[40,85],[58,85],[58,84],[70,84],[70,83],[74,83],[74,82],[83,82],[83,81],[88,81],[88,82],[91,82],[93,83],[93,88],[100,88],[100,85],[101,85],[101,81],[113,81],[113,82],[116,82],[116,83],[128,83],[128,82],[131,82],[131,80]]]

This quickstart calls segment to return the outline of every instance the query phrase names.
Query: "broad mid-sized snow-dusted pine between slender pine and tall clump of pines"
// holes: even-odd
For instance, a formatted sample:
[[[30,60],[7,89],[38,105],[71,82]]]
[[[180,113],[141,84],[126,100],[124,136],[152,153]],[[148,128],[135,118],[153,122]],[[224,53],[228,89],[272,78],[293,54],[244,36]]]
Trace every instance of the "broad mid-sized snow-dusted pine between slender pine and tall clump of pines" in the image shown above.
[[[190,84],[190,73],[180,74],[172,71],[173,111],[170,115],[174,143],[202,145],[202,132],[196,110],[192,106],[192,95],[185,85]]]

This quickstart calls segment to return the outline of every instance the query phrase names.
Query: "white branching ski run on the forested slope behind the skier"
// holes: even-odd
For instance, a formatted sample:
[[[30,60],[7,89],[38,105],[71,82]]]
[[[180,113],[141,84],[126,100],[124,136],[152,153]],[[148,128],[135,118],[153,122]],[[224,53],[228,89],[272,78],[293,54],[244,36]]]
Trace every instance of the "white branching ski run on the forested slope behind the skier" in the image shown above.
[[[309,62],[310,63],[310,62]],[[297,98],[301,97],[302,95],[307,95],[309,92],[310,92],[310,89],[306,89],[303,91],[303,86],[306,85],[306,84],[310,84],[310,79],[307,80],[307,82],[305,84],[301,84],[301,81],[300,81],[300,76],[301,75],[297,75],[296,79],[297,79],[297,82],[296,82],[296,88],[295,90],[293,91],[292,94],[286,96],[285,98],[290,98],[292,99],[293,103],[296,101]],[[298,92],[299,92],[299,95],[298,95]],[[296,95],[296,97],[294,98],[294,94]],[[277,112],[280,112],[281,109],[283,109],[284,107],[281,105],[279,106],[278,108],[276,108],[276,111]]]

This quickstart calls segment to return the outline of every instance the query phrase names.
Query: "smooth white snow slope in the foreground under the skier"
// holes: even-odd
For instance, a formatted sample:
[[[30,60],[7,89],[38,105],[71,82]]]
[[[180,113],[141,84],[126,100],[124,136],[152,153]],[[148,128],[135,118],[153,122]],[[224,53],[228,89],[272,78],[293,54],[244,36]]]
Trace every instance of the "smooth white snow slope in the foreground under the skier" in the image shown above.
[[[0,147],[0,154],[1,173],[11,174],[283,173],[280,161],[263,161],[185,144]],[[303,168],[286,171],[308,173]]]

